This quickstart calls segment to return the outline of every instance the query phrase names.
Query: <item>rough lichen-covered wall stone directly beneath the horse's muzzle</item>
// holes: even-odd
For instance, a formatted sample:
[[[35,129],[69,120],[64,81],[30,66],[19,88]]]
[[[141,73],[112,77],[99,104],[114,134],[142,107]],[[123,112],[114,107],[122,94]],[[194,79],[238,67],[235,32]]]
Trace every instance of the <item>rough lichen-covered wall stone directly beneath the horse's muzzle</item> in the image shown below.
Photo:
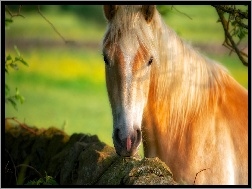
[[[158,158],[122,158],[107,169],[96,184],[176,185],[170,169]]]

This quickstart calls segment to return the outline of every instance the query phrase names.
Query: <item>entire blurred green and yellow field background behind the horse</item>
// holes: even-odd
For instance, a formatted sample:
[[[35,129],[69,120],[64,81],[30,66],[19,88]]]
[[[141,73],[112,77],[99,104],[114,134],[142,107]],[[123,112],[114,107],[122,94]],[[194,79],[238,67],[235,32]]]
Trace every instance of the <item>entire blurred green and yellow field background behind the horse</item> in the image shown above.
[[[13,13],[18,6],[9,6]],[[211,6],[159,6],[167,25],[195,49],[223,64],[248,87],[248,68],[222,46],[224,33]],[[165,9],[165,11],[164,11]],[[102,6],[23,6],[5,28],[5,55],[16,55],[16,45],[28,67],[5,74],[10,92],[24,96],[15,110],[6,104],[5,117],[38,128],[56,127],[67,134],[96,134],[113,146],[112,115],[107,97],[102,57],[106,20]],[[8,14],[6,14],[8,15]],[[190,18],[191,19],[190,19]]]

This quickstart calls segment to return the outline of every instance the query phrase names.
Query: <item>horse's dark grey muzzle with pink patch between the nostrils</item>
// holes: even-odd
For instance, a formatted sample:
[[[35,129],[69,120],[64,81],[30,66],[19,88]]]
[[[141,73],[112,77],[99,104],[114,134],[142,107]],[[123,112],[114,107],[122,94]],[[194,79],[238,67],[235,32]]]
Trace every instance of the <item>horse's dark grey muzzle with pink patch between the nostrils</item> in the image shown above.
[[[127,137],[120,136],[123,136],[120,134],[120,129],[116,129],[113,135],[116,153],[124,157],[134,156],[138,151],[142,139],[140,129],[134,129]]]

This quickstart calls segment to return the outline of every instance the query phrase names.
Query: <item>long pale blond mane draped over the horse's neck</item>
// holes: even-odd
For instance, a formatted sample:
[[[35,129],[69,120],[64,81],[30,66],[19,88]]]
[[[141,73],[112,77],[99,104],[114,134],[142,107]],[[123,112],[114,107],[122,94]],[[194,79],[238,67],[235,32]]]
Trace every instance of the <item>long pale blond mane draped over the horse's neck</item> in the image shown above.
[[[185,44],[171,29],[160,39],[159,64],[151,75],[151,98],[171,136],[181,136],[202,113],[212,114],[223,93],[226,73],[215,62]],[[164,53],[165,52],[165,53]],[[160,117],[160,115],[156,115]]]

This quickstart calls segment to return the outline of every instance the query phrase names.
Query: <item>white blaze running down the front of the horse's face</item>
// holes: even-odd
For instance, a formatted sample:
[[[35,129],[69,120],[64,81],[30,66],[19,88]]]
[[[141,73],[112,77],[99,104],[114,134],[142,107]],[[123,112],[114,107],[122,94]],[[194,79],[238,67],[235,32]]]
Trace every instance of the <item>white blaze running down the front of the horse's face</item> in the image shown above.
[[[122,127],[119,128],[122,131],[121,134],[124,135],[122,138],[128,137],[129,133],[136,129],[134,128],[134,125],[139,127],[141,126],[145,102],[145,99],[142,98],[143,91],[141,90],[141,81],[137,81],[134,77],[135,74],[133,73],[134,59],[137,56],[140,46],[137,42],[134,43],[128,40],[126,40],[123,44],[124,45],[120,45],[120,50],[124,58],[124,67],[122,68],[122,77],[124,82],[122,83],[123,91],[120,91],[122,95],[122,102],[120,102],[117,107],[119,120],[117,119],[116,123],[117,126]]]

